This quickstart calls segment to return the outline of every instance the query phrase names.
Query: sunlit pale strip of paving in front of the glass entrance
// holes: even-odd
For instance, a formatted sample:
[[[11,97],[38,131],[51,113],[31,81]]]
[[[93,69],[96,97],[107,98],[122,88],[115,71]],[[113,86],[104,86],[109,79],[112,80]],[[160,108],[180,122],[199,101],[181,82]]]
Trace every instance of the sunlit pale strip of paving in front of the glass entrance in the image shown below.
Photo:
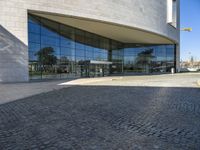
[[[163,75],[135,75],[91,79],[77,79],[61,85],[98,86],[143,86],[143,87],[192,87],[197,88],[200,73],[179,73]]]

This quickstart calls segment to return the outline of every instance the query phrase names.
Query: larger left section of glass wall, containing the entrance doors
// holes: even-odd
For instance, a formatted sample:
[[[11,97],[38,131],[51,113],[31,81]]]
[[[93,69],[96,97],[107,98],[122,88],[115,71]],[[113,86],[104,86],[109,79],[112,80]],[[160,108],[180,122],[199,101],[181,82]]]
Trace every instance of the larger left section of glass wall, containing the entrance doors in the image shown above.
[[[122,73],[119,42],[34,15],[28,31],[31,79]]]

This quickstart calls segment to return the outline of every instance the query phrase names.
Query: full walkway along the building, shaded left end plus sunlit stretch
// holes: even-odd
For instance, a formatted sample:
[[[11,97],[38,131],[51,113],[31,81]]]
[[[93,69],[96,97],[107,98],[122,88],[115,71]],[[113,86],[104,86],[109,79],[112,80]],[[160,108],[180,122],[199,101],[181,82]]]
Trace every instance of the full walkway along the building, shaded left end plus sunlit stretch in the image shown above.
[[[199,79],[200,73],[181,73],[174,75],[82,78],[71,81],[66,79],[27,83],[0,83],[0,104],[74,85],[198,88],[197,81]]]

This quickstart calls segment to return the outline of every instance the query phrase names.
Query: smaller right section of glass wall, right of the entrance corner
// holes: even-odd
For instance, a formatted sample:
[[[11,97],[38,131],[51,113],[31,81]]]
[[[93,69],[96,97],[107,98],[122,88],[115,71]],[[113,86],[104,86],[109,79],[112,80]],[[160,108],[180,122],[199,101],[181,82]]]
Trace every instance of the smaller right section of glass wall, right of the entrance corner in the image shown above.
[[[175,68],[175,45],[126,45],[125,73],[166,73]]]

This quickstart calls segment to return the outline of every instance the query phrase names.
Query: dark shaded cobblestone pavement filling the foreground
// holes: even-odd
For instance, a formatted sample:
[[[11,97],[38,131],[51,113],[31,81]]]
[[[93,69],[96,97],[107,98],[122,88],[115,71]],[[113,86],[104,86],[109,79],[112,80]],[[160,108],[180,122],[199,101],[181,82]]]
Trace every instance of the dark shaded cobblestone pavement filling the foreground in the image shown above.
[[[2,104],[0,149],[199,150],[200,89],[72,86]]]

